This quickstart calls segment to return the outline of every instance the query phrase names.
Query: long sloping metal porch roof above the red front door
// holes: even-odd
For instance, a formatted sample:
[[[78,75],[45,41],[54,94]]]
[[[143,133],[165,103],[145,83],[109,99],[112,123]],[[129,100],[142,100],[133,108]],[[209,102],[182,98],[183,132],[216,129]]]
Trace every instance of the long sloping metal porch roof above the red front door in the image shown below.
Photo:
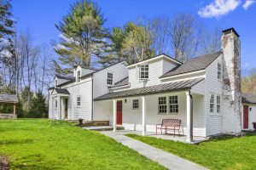
[[[144,88],[133,88],[129,90],[112,92],[104,94],[100,97],[97,97],[94,100],[103,100],[103,99],[116,99],[122,97],[131,97],[137,95],[146,95],[146,94],[157,94],[162,92],[170,92],[174,90],[186,90],[193,87],[196,83],[201,82],[204,78],[195,78],[179,82],[169,82],[154,86],[148,86]]]

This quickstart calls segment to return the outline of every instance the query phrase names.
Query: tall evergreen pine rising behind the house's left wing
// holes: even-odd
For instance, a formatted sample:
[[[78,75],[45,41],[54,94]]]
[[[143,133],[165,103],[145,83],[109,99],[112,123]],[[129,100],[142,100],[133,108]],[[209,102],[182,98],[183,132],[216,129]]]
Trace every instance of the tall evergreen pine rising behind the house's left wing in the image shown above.
[[[90,67],[92,57],[100,57],[107,48],[108,31],[101,9],[90,0],[74,3],[70,12],[55,25],[61,31],[61,43],[55,46],[61,64]]]

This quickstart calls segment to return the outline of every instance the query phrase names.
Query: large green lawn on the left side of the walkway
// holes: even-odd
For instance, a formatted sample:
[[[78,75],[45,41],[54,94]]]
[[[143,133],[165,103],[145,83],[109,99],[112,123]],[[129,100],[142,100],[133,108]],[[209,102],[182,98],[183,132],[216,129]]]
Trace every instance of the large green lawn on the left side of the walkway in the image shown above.
[[[11,169],[164,169],[102,133],[46,119],[0,121]]]

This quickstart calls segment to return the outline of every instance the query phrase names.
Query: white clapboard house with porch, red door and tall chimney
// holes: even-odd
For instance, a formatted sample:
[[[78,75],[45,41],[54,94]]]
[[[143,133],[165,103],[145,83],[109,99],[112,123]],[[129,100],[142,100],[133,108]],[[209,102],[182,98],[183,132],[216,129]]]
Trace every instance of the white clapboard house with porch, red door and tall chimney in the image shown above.
[[[241,105],[241,55],[234,28],[223,31],[222,49],[184,63],[160,54],[133,65],[120,62],[96,71],[77,66],[73,77],[56,75],[49,88],[49,118],[109,121],[125,129],[155,132],[164,118],[182,122],[194,136],[240,133],[256,122],[256,105]],[[245,100],[243,100],[245,102]],[[243,111],[241,111],[243,110]],[[241,114],[243,113],[243,115]]]

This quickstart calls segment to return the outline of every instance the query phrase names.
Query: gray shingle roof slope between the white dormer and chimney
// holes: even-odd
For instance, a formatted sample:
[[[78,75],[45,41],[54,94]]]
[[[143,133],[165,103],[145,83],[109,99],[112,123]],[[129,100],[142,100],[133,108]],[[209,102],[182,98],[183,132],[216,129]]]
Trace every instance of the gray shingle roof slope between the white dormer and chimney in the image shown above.
[[[218,56],[222,54],[222,51],[218,51],[212,54],[206,54],[193,59],[189,59],[183,63],[183,65],[178,65],[171,71],[166,72],[162,77],[171,77],[191,71],[201,71],[207,68],[208,65],[212,63]]]

